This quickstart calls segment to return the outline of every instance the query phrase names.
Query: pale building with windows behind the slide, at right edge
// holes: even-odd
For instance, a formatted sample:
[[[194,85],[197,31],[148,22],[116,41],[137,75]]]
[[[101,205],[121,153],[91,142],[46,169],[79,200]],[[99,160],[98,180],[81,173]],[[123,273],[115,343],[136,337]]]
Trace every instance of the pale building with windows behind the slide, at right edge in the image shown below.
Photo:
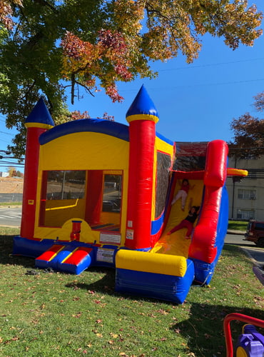
[[[248,176],[240,181],[235,176],[226,180],[229,196],[228,218],[264,221],[264,156],[258,159],[229,157],[228,160],[229,167],[248,171]]]

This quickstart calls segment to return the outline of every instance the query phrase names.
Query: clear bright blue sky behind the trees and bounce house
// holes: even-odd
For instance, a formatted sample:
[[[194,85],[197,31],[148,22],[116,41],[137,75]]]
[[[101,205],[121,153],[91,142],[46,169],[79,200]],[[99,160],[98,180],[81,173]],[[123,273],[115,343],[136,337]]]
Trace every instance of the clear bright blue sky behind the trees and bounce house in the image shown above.
[[[263,0],[248,2],[264,12]],[[248,111],[261,116],[253,107],[253,96],[264,91],[264,36],[253,47],[240,46],[235,51],[225,46],[223,39],[205,35],[202,41],[203,48],[193,64],[186,64],[179,55],[166,63],[153,63],[157,79],[119,83],[123,103],[113,104],[102,90],[95,97],[86,94],[73,106],[69,104],[69,109],[88,111],[92,118],[106,111],[115,121],[126,124],[126,111],[144,84],[158,109],[156,129],[163,136],[173,141],[230,141],[233,118]],[[0,150],[6,149],[14,132],[6,129],[0,115]]]

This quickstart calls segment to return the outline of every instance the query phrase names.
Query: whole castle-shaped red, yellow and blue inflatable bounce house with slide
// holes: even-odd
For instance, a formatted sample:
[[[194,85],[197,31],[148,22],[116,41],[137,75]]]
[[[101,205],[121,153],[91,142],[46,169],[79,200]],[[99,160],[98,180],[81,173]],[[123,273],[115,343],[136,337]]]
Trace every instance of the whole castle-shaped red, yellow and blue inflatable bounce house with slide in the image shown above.
[[[40,99],[26,119],[20,236],[14,254],[36,267],[80,274],[116,268],[116,291],[183,303],[208,284],[228,226],[228,146],[173,142],[156,132],[158,112],[144,86],[128,126],[80,119],[54,126]],[[229,170],[229,171],[228,171]],[[242,172],[243,171],[243,172]],[[186,206],[171,205],[188,180]],[[168,231],[200,206],[191,239]]]

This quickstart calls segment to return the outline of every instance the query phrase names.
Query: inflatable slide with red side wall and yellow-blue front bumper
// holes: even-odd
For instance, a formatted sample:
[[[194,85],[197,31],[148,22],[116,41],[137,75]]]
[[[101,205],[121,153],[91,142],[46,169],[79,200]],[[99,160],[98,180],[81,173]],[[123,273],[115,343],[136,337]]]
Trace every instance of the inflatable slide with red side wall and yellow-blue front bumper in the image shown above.
[[[204,285],[210,282],[228,226],[228,193],[224,185],[227,146],[223,141],[206,145],[188,143],[185,144],[185,155],[191,155],[194,147],[196,154],[197,149],[203,149],[205,169],[173,171],[161,238],[148,253],[118,251],[118,290],[149,297],[155,291],[156,298],[182,303],[192,283]],[[193,158],[186,156],[186,159],[190,157]],[[171,201],[185,178],[188,178],[191,188],[186,201],[188,208],[183,211],[181,200],[173,205]],[[200,206],[191,239],[186,239],[186,228],[168,235],[168,231],[186,218],[191,206]]]

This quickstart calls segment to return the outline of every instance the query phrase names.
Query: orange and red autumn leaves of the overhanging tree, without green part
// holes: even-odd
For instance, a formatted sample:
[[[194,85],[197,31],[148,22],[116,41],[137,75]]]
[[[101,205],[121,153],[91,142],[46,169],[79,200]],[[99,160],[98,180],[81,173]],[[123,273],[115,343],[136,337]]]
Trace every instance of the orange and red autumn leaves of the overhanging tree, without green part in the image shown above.
[[[64,78],[74,87],[96,89],[96,79],[113,101],[121,101],[116,81],[155,76],[149,61],[166,61],[179,52],[191,63],[201,49],[200,36],[223,36],[231,49],[253,45],[260,36],[261,14],[248,2],[235,0],[109,1],[107,28],[93,41],[67,31],[62,41]],[[144,23],[144,26],[143,26]]]

